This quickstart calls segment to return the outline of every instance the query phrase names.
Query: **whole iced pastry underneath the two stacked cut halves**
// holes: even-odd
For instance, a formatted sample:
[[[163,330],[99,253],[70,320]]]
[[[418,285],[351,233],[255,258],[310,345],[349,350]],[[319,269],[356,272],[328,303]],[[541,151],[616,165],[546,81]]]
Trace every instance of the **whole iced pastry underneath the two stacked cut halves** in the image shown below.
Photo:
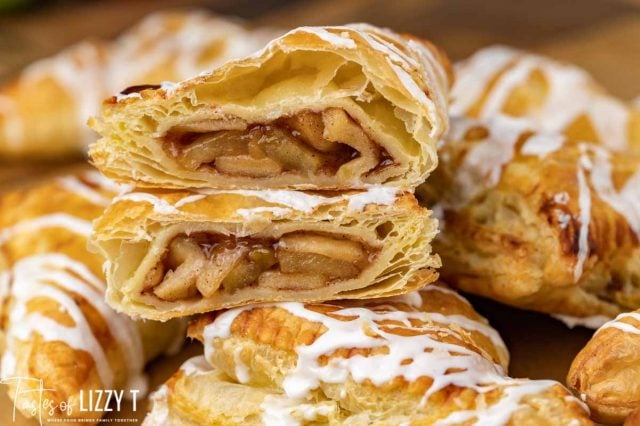
[[[496,331],[453,291],[207,314],[205,346],[146,426],[591,424],[559,383],[506,376]]]

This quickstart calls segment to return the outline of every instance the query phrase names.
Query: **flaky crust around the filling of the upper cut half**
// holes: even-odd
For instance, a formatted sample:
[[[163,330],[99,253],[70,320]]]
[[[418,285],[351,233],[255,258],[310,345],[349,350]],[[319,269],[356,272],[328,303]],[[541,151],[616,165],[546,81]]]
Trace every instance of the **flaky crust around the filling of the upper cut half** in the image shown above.
[[[305,59],[308,55],[323,55],[328,63],[323,68],[322,58],[312,61],[309,66],[318,67],[313,71],[313,82],[293,80],[296,73],[290,73],[294,77],[279,84],[292,85],[295,81],[295,88],[274,84],[251,89],[255,84],[247,83],[252,78],[256,84],[262,81],[265,76],[261,73],[272,72],[267,66],[282,67],[270,61],[309,61]],[[338,64],[361,67],[356,75],[364,80],[340,88],[333,75],[324,75]],[[444,55],[430,43],[370,25],[300,27],[273,40],[262,51],[209,74],[106,101],[102,115],[90,121],[102,136],[92,145],[90,156],[106,176],[142,187],[346,189],[385,183],[409,188],[437,165],[436,140],[448,122],[448,67]],[[327,80],[329,77],[331,80]],[[248,88],[246,93],[239,91],[244,86]],[[369,86],[373,92],[368,91]],[[383,97],[389,105],[371,103],[375,96]],[[260,179],[212,175],[207,168],[191,171],[180,167],[158,140],[174,124],[183,123],[182,116],[252,124],[328,107],[342,108],[392,157],[402,161],[402,174],[396,173],[385,182],[367,183],[354,177],[339,184],[322,174],[312,180],[291,173]],[[374,107],[377,110],[366,110]],[[384,111],[378,111],[383,107]],[[123,123],[127,123],[126,128]]]

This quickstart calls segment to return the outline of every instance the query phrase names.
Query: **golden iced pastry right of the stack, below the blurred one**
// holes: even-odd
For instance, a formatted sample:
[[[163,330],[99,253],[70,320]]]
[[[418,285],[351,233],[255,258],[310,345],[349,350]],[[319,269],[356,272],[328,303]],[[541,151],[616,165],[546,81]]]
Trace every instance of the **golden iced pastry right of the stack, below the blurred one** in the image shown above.
[[[596,327],[640,307],[639,158],[508,117],[454,120],[439,154],[418,194],[445,281]]]

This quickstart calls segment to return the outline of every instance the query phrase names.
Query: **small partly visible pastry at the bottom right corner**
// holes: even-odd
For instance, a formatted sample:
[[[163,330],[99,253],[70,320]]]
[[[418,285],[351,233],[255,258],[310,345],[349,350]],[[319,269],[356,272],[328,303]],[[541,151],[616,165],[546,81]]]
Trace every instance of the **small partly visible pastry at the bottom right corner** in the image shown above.
[[[640,311],[603,325],[571,364],[567,384],[598,422],[619,424],[640,409]]]

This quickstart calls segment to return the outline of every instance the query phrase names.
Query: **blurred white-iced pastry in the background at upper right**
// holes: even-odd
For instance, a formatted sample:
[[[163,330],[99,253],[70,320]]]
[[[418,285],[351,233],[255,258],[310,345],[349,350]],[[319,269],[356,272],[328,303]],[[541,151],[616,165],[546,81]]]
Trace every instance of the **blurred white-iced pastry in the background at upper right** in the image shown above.
[[[640,110],[608,94],[584,70],[504,46],[456,64],[451,114],[506,114],[533,128],[640,153]]]

